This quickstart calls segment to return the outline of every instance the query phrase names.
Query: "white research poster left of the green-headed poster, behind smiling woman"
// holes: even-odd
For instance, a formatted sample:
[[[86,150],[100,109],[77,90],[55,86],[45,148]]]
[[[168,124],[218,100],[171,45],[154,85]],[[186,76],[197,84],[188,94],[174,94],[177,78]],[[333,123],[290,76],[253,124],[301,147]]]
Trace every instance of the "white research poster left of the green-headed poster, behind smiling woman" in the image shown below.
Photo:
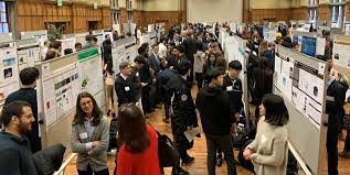
[[[75,108],[79,89],[79,75],[77,62],[68,64],[55,70],[47,65],[43,69],[43,106],[46,129]]]

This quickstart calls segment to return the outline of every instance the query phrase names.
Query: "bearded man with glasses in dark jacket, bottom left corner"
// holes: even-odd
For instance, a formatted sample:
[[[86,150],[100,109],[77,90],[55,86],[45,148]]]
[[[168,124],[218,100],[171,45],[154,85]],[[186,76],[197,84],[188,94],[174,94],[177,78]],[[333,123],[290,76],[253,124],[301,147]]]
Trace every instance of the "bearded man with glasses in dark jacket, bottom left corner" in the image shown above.
[[[38,171],[25,135],[35,122],[31,105],[13,101],[2,108],[4,131],[0,132],[0,169],[9,175],[36,175]]]

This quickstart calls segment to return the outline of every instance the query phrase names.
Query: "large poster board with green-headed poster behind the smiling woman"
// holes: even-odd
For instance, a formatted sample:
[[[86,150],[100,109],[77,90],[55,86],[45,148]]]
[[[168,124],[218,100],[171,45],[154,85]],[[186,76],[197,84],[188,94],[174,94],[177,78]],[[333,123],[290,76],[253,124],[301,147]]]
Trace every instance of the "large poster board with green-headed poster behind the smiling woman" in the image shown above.
[[[42,144],[44,147],[62,143],[70,150],[72,121],[75,114],[76,98],[79,92],[92,90],[89,92],[104,111],[104,80],[102,67],[96,67],[98,62],[102,62],[100,54],[98,54],[96,47],[93,47],[43,62],[39,65],[41,83],[38,84],[38,91],[41,94],[41,98],[39,98],[38,102],[42,103],[43,109],[40,114],[45,121],[42,131]],[[92,64],[94,65],[93,68],[91,68]],[[86,72],[87,69],[89,72]],[[92,80],[89,79],[94,83],[91,83]],[[97,87],[92,87],[96,86],[96,84],[98,84]]]

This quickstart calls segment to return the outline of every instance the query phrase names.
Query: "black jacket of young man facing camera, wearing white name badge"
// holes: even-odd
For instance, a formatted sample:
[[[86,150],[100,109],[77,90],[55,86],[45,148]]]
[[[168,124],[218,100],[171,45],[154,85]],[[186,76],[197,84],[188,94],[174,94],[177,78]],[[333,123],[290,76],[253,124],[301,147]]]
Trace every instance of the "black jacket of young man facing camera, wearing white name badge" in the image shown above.
[[[225,90],[230,97],[230,105],[232,113],[240,113],[241,109],[243,108],[242,102],[242,81],[240,78],[231,79],[229,75],[224,76],[224,84],[222,89]]]

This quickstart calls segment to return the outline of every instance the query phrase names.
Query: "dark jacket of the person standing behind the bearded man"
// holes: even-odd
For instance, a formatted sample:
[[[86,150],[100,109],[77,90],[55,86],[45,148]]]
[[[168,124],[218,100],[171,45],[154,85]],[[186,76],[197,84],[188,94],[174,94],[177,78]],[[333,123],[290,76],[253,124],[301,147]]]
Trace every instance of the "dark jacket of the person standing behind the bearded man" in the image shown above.
[[[36,90],[33,88],[21,88],[10,94],[4,101],[4,105],[11,103],[18,100],[29,102],[32,107],[32,112],[33,112],[35,122],[32,124],[31,133],[29,133],[26,136],[30,142],[32,153],[35,153],[41,150],[41,140],[39,138],[39,124],[38,124],[39,120],[38,120]]]

